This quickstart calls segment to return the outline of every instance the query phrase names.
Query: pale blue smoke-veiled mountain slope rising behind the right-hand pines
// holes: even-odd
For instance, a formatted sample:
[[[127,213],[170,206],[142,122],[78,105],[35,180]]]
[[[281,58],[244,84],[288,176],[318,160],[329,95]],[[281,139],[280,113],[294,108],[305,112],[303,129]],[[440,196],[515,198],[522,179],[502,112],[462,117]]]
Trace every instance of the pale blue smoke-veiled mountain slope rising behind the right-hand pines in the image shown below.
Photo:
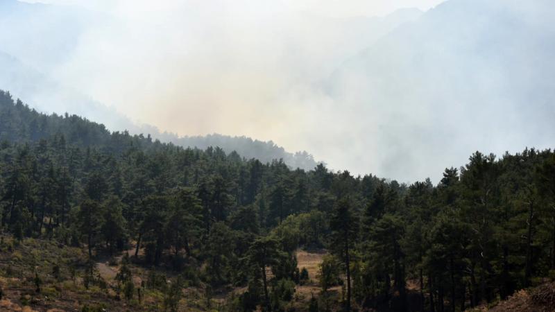
[[[372,168],[393,177],[441,170],[421,166],[439,157],[463,162],[443,150],[547,148],[554,19],[552,1],[446,1],[345,62],[324,88],[364,123],[364,143],[387,150]]]

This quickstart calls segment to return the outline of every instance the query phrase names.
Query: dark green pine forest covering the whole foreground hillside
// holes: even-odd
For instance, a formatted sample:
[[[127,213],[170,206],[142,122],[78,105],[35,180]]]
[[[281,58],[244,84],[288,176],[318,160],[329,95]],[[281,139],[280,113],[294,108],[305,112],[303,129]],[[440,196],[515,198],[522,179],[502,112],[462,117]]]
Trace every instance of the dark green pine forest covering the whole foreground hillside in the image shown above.
[[[464,311],[555,279],[555,154],[475,152],[407,185],[0,92],[0,218],[0,295],[39,311]],[[300,250],[322,255],[316,275]]]

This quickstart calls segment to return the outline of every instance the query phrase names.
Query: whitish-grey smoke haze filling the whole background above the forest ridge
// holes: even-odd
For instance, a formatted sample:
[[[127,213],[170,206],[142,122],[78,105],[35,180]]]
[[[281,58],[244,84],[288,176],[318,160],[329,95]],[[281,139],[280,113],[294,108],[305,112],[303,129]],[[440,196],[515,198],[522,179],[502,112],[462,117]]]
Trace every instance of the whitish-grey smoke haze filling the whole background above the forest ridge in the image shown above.
[[[549,1],[50,2],[75,6],[0,4],[0,88],[45,111],[273,140],[402,181],[553,146]]]

